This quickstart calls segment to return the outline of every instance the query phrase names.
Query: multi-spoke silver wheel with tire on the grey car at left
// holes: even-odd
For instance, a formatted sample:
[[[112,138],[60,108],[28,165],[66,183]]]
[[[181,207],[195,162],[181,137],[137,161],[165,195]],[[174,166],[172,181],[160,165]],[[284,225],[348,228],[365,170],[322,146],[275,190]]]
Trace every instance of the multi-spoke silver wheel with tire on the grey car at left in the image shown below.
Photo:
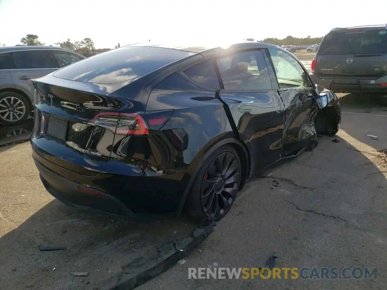
[[[31,106],[26,97],[15,92],[0,94],[0,123],[17,125],[28,118]]]

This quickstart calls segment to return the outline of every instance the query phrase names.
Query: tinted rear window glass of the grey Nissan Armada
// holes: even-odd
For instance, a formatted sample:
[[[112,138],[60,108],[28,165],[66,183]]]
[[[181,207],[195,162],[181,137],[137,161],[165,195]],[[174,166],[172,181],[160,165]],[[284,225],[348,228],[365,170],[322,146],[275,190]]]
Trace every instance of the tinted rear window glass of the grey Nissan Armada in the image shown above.
[[[387,30],[333,32],[322,40],[319,55],[387,53]]]

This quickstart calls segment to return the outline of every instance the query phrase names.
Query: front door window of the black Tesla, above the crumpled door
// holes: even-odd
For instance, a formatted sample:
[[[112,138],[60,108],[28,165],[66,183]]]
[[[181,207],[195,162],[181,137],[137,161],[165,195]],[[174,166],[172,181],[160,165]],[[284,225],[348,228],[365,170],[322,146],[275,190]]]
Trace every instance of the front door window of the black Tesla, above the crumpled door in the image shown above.
[[[269,48],[280,89],[308,87],[308,77],[300,63],[288,53]]]

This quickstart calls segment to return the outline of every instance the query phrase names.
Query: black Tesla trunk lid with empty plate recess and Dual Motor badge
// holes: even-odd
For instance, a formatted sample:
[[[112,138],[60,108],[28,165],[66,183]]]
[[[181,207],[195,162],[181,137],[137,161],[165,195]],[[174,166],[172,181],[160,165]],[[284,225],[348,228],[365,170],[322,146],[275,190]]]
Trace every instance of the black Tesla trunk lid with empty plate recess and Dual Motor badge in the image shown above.
[[[108,162],[116,130],[114,122],[103,118],[118,120],[119,113],[113,112],[124,106],[123,100],[52,84],[34,85],[33,148],[65,169],[98,175]]]

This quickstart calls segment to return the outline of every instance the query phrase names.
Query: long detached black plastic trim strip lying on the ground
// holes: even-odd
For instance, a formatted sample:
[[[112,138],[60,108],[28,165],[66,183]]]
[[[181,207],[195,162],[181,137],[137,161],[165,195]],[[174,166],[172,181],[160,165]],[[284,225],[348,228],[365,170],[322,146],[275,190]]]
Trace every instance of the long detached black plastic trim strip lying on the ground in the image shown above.
[[[104,283],[101,290],[131,290],[138,287],[174,266],[188,256],[213,231],[216,223],[204,220],[199,226],[180,240],[171,241],[158,248],[152,258],[140,257],[122,267],[119,275]]]

